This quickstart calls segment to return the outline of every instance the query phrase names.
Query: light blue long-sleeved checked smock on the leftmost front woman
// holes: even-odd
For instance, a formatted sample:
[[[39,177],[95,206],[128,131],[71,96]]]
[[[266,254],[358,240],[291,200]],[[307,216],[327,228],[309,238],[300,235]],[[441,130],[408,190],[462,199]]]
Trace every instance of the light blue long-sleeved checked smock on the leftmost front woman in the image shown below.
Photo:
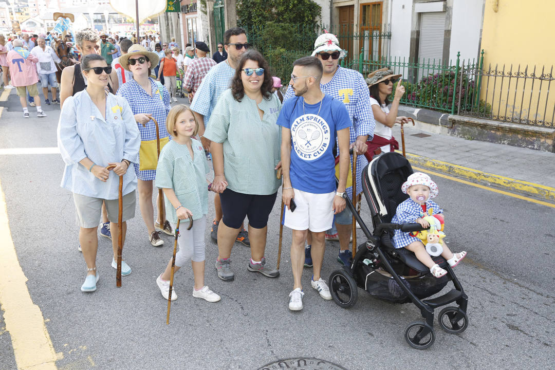
[[[127,159],[139,160],[140,134],[133,112],[124,98],[108,94],[106,119],[90,99],[87,90],[67,98],[58,121],[58,149],[65,162],[62,184],[75,194],[118,199],[119,176],[110,171],[107,182],[100,181],[79,164],[89,158],[99,166]],[[137,177],[129,169],[123,175],[123,195],[137,188]]]

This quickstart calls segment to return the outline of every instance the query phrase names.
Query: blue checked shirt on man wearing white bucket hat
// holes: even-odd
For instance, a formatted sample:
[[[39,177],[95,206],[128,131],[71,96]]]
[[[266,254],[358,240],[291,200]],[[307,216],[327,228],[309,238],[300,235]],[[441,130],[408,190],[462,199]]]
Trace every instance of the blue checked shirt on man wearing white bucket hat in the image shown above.
[[[320,89],[322,92],[331,95],[345,104],[353,126],[353,129],[350,130],[350,144],[354,143],[357,136],[360,135],[369,135],[368,140],[374,138],[376,121],[370,107],[370,92],[362,74],[356,70],[338,66],[334,77],[330,82],[320,84]],[[294,96],[295,92],[289,86],[285,93],[284,101]],[[368,161],[362,154],[358,157],[359,159],[356,163],[356,192],[360,194],[362,192],[362,169],[365,168]],[[352,197],[352,187],[347,187],[347,196]]]

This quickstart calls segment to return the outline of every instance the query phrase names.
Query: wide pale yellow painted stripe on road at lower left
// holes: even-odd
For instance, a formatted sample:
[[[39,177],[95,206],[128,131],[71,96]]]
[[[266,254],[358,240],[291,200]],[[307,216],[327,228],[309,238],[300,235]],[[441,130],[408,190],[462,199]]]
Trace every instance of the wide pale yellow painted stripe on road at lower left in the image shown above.
[[[0,183],[0,305],[20,370],[56,370],[58,355],[41,309],[33,303],[9,230],[6,197]]]

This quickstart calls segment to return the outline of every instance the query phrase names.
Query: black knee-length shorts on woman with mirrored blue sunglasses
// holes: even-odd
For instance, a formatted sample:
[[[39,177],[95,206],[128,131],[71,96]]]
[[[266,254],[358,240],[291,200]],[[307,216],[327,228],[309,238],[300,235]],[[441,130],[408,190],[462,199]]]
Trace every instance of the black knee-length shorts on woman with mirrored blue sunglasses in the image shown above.
[[[243,226],[245,216],[248,216],[251,227],[263,229],[268,225],[268,217],[274,208],[276,196],[278,192],[270,195],[254,195],[225,189],[220,194],[224,224],[232,229],[239,229]]]

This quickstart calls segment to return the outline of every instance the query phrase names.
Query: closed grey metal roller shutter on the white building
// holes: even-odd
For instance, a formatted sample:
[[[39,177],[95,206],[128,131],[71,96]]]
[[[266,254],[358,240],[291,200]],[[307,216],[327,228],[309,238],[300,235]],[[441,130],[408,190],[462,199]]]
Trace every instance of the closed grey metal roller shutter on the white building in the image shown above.
[[[421,13],[420,48],[418,59],[422,62],[439,63],[443,57],[443,39],[445,38],[445,12]]]

